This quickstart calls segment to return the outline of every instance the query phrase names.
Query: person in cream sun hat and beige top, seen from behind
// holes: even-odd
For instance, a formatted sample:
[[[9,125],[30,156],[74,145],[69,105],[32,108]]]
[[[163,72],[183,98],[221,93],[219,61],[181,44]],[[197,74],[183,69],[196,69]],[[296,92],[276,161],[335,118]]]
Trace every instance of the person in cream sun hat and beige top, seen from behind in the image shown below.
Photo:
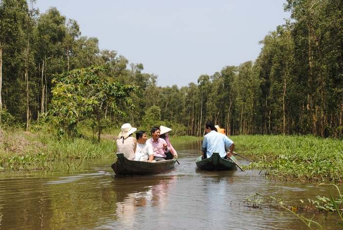
[[[131,127],[129,123],[123,124],[121,127],[121,132],[119,133],[116,141],[117,153],[124,153],[124,156],[129,160],[133,160],[135,158],[137,140],[131,135],[136,130],[137,128]]]

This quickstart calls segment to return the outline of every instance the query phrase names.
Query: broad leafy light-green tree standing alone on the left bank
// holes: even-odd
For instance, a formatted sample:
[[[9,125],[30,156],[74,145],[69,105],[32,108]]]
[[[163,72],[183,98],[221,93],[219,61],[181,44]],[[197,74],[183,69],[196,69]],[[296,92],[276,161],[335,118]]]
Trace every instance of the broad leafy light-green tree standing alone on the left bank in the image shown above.
[[[93,118],[100,135],[105,109],[124,116],[120,103],[123,101],[133,107],[129,94],[135,86],[123,85],[104,76],[104,72],[101,66],[91,66],[66,72],[52,80],[55,85],[49,114],[58,130],[62,128],[69,136],[75,136],[78,122]]]

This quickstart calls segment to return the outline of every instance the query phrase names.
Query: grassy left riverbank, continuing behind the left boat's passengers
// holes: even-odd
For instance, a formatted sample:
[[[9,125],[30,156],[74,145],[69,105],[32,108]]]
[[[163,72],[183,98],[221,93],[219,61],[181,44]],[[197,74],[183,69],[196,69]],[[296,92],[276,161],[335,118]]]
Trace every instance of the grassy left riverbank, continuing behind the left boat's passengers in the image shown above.
[[[116,160],[116,135],[109,131],[101,135],[98,143],[90,131],[83,130],[83,137],[62,138],[45,133],[25,132],[21,129],[2,130],[0,136],[0,171],[60,170],[61,161],[71,160],[68,168],[77,170],[75,159]],[[172,137],[172,143],[201,140],[199,137]],[[75,163],[75,164],[74,164]],[[72,165],[73,164],[73,165]],[[62,164],[63,165],[63,164]],[[76,165],[76,166],[75,166]]]

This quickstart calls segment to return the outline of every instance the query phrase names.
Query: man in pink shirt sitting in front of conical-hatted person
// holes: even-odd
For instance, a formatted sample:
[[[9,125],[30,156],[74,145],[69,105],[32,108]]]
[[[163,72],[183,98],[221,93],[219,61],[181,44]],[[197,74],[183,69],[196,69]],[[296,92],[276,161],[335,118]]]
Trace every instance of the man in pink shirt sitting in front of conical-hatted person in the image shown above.
[[[169,151],[169,148],[167,142],[160,138],[160,131],[160,128],[156,126],[151,128],[151,138],[147,140],[147,142],[152,146],[154,160],[156,161],[168,159],[166,153]]]

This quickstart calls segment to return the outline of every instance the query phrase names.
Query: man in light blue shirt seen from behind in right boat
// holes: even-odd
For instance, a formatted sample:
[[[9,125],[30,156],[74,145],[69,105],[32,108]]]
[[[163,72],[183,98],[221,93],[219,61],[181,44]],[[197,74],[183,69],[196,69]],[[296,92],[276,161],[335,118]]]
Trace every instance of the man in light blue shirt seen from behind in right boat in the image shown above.
[[[201,151],[203,152],[203,159],[210,157],[212,153],[219,153],[223,158],[232,156],[234,143],[226,135],[216,131],[214,124],[209,121],[205,124],[205,136],[202,143]],[[226,149],[229,151],[226,153]]]

